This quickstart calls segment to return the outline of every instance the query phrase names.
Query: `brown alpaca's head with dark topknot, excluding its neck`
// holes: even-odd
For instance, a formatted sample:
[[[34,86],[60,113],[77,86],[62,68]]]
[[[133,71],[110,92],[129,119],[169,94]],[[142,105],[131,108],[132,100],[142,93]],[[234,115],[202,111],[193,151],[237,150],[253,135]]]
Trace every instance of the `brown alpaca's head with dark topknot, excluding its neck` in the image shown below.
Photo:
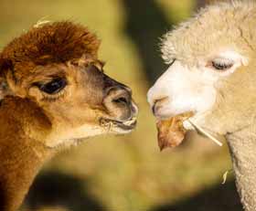
[[[4,48],[0,94],[37,104],[51,124],[46,145],[133,130],[132,92],[103,73],[99,46],[86,27],[56,22],[34,27]]]

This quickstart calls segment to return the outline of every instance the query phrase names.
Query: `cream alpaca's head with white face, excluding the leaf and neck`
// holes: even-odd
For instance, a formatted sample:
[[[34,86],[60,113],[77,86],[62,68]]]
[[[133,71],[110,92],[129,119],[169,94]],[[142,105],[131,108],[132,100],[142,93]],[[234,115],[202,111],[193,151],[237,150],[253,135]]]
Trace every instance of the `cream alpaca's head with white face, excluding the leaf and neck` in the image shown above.
[[[158,119],[194,111],[219,134],[251,124],[256,114],[256,5],[209,5],[163,38],[169,68],[148,91]]]

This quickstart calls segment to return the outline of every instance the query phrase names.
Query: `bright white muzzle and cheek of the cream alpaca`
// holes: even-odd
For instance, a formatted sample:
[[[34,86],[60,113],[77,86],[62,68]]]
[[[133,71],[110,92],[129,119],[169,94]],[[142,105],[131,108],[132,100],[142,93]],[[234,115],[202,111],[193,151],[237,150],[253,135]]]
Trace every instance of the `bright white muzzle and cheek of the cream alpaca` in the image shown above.
[[[188,69],[176,61],[148,91],[151,106],[165,97],[168,100],[165,100],[158,114],[170,117],[187,111],[208,111],[215,102],[216,90],[208,75],[196,68]]]

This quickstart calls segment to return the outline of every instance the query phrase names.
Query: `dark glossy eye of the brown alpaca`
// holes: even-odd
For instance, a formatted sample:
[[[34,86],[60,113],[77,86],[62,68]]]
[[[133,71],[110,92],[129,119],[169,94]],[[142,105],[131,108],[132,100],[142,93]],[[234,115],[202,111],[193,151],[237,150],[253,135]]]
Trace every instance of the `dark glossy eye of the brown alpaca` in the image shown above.
[[[39,89],[48,93],[48,94],[56,94],[67,85],[66,79],[53,79],[52,81],[40,85]]]

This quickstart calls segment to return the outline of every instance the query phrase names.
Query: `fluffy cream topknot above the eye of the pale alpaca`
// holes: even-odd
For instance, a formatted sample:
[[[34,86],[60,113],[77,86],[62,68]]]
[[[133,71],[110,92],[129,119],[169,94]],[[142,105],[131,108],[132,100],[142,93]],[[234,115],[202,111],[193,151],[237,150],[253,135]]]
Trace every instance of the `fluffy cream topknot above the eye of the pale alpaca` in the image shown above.
[[[208,5],[193,18],[165,34],[161,43],[165,62],[169,64],[176,58],[184,64],[195,66],[200,59],[223,47],[228,46],[243,55],[255,49],[255,2],[229,2]]]

